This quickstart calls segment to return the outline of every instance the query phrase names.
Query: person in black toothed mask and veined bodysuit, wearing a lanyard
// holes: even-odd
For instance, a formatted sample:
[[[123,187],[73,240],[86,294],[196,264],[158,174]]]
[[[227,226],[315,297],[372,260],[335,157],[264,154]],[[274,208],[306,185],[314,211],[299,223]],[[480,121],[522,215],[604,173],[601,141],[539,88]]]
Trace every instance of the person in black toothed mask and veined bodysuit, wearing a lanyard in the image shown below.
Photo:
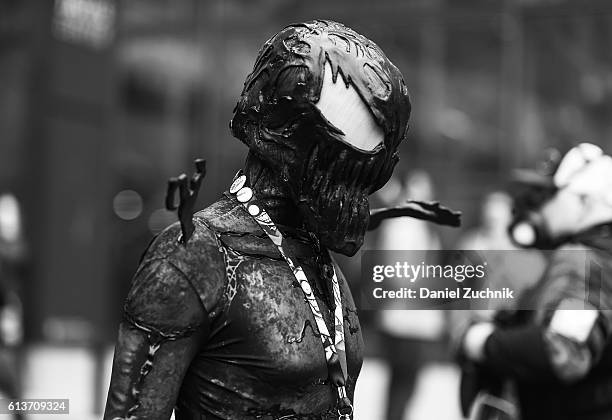
[[[363,341],[329,250],[353,255],[410,102],[373,42],[329,21],[267,41],[231,130],[229,190],[149,246],[119,328],[105,419],[349,419]]]

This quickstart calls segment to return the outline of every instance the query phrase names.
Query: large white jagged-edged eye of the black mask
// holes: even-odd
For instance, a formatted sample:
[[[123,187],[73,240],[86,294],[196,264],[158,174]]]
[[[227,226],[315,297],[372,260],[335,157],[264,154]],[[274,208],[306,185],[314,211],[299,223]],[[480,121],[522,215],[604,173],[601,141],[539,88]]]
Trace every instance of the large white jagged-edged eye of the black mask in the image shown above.
[[[323,86],[317,108],[344,133],[343,140],[356,149],[370,152],[384,140],[382,128],[352,85],[346,87],[342,75],[333,82],[332,69],[325,62]]]

